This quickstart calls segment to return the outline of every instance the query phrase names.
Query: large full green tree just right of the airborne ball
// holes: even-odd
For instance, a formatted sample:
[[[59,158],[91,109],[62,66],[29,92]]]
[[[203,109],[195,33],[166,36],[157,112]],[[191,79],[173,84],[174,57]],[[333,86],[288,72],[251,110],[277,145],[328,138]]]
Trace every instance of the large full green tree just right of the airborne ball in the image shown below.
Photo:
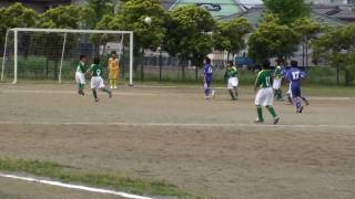
[[[211,33],[215,29],[215,21],[211,13],[195,6],[186,6],[173,10],[171,15],[165,40],[168,52],[190,59],[195,66],[202,66],[203,59],[213,49]]]

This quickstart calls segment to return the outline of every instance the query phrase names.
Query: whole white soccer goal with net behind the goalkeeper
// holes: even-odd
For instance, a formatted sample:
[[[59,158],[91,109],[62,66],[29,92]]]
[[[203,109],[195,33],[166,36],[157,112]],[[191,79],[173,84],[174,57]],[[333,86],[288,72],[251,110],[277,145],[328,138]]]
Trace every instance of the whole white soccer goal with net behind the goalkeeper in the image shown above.
[[[120,78],[133,85],[132,31],[10,29],[4,41],[1,81],[72,81],[80,55],[87,55],[90,63],[100,57],[102,69],[108,70],[112,51],[120,59]]]

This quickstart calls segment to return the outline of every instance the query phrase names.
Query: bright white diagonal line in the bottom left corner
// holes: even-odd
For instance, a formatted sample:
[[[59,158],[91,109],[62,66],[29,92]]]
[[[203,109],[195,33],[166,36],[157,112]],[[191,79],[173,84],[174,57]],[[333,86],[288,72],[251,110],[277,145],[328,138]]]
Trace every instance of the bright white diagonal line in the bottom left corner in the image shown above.
[[[98,188],[92,188],[92,187],[78,186],[78,185],[72,185],[72,184],[63,184],[60,181],[52,181],[52,180],[28,178],[28,177],[21,177],[21,176],[14,176],[14,175],[1,174],[1,172],[0,172],[0,177],[23,180],[23,181],[30,181],[30,182],[37,182],[37,184],[43,184],[43,185],[55,186],[55,187],[63,187],[63,188],[68,188],[68,189],[83,190],[83,191],[89,191],[89,192],[114,195],[114,196],[120,196],[120,197],[130,198],[130,199],[152,199],[152,198],[148,198],[148,197],[130,195],[130,193],[125,193],[125,192],[118,192],[118,191],[108,190],[108,189],[98,189]]]

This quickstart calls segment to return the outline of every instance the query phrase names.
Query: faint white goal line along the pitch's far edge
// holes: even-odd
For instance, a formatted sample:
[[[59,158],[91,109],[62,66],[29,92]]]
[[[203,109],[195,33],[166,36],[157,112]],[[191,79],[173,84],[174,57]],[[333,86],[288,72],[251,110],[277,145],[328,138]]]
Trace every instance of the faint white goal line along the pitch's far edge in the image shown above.
[[[151,86],[154,87],[154,86]],[[168,86],[164,86],[168,87]],[[173,86],[172,86],[173,87]],[[39,90],[0,90],[0,94],[11,94],[11,93],[22,93],[22,94],[77,94],[75,91],[39,91]],[[89,94],[91,92],[89,91]],[[155,96],[161,95],[160,93],[126,93],[126,92],[113,92],[113,95],[123,95],[123,96]],[[170,94],[171,95],[171,94]],[[184,94],[186,95],[186,94]],[[314,101],[351,101],[355,97],[307,97],[308,100]]]

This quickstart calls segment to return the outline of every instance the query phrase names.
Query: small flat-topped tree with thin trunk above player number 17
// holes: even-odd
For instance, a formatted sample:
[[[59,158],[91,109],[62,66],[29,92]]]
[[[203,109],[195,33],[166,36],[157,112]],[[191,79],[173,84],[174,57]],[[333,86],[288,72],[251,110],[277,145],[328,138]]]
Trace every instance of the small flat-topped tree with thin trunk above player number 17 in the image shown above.
[[[322,24],[311,18],[300,18],[291,27],[301,38],[303,66],[307,66],[310,43],[322,31]]]

